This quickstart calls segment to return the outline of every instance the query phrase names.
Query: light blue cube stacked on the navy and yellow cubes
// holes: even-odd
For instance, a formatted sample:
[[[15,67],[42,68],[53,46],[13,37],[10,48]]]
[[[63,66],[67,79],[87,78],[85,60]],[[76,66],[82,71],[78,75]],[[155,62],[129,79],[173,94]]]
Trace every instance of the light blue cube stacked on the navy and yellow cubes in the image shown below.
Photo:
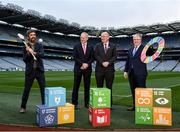
[[[45,105],[48,107],[64,106],[66,104],[66,89],[63,87],[48,87],[45,89]]]

